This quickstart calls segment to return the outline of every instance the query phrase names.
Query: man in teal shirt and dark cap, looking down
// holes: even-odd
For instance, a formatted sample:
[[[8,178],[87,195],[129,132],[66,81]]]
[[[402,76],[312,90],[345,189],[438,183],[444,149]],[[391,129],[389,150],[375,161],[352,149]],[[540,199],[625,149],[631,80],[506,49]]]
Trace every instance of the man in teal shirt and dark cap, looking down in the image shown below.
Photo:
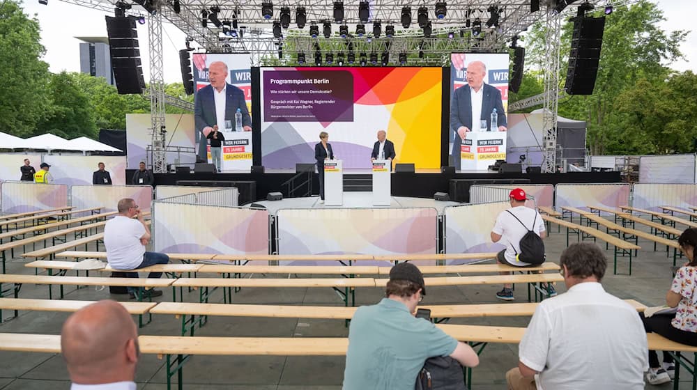
[[[475,367],[479,357],[436,325],[413,313],[426,290],[415,265],[392,267],[386,298],[355,311],[348,329],[344,390],[408,390],[429,357],[450,356]]]

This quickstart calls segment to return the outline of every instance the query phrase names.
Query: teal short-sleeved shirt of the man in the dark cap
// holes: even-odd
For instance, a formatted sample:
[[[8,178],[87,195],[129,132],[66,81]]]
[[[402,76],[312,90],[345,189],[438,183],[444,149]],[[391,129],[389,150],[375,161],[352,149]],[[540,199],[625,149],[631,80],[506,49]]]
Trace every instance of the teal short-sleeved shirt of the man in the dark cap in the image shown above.
[[[348,329],[344,390],[411,390],[429,357],[454,352],[457,340],[383,298],[355,311]]]

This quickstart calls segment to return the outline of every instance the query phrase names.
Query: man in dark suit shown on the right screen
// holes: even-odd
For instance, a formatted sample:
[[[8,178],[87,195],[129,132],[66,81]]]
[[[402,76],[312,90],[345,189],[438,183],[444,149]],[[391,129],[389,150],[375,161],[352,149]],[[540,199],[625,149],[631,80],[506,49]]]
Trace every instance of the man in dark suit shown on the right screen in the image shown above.
[[[484,83],[487,65],[482,61],[472,61],[467,65],[467,85],[457,88],[450,102],[450,131],[454,132],[452,143],[453,165],[460,169],[460,146],[467,132],[485,132],[480,129],[480,121],[487,120],[490,125],[491,112],[498,114],[498,131],[505,132],[508,123],[503,110],[503,100],[498,89]]]

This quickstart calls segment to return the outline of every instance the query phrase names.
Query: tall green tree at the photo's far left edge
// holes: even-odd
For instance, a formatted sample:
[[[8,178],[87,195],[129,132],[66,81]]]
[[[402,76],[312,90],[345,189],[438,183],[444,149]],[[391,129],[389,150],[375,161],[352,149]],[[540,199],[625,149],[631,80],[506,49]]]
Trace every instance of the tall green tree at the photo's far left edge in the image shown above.
[[[0,131],[24,137],[45,119],[52,102],[39,24],[20,4],[0,2]]]

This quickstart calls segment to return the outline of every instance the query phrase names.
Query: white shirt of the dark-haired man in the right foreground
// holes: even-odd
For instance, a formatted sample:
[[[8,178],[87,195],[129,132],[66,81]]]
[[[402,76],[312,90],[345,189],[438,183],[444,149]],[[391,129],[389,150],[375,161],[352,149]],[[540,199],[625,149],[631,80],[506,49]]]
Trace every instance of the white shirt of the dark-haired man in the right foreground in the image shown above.
[[[518,356],[539,372],[538,390],[640,390],[649,368],[646,331],[636,309],[595,282],[544,299]]]

